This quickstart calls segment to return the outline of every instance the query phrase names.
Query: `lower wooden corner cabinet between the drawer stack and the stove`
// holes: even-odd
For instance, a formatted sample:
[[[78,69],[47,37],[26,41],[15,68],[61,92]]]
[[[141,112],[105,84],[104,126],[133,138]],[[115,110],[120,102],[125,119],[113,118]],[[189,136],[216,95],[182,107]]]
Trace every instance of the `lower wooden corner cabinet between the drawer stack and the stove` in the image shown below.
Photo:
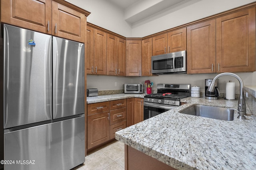
[[[127,99],[127,127],[144,120],[144,99],[128,98]]]

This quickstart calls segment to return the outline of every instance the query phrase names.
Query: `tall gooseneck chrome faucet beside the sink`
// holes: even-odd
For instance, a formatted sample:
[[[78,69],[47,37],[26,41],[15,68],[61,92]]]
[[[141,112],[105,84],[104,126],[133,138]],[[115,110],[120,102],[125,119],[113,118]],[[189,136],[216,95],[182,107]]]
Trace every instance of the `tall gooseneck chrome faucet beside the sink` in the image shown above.
[[[240,83],[240,97],[238,100],[238,119],[246,119],[246,117],[244,116],[246,114],[246,104],[245,104],[245,99],[244,99],[244,83],[242,78],[240,78],[238,75],[231,73],[231,72],[224,72],[221,74],[218,74],[217,76],[214,77],[214,79],[212,80],[212,83],[210,84],[210,86],[207,88],[207,90],[209,92],[214,92],[214,82],[217,78],[219,78],[220,76],[233,76],[235,78],[237,78],[237,80]]]

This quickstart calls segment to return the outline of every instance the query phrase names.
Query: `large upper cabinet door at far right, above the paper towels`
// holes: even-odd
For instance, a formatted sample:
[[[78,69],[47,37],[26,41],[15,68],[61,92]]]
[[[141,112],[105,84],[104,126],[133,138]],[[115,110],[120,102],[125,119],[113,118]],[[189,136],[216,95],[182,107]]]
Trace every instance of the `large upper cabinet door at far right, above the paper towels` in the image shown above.
[[[216,72],[255,71],[255,7],[216,19]]]

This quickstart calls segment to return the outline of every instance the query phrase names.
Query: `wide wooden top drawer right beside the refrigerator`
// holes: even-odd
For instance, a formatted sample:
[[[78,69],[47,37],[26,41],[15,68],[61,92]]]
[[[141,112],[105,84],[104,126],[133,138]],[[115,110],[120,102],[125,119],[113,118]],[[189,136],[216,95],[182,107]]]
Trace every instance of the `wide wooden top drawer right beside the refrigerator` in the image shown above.
[[[95,113],[100,113],[103,111],[109,111],[109,104],[110,102],[100,102],[100,103],[93,103],[87,105],[87,113],[88,115],[92,115]]]

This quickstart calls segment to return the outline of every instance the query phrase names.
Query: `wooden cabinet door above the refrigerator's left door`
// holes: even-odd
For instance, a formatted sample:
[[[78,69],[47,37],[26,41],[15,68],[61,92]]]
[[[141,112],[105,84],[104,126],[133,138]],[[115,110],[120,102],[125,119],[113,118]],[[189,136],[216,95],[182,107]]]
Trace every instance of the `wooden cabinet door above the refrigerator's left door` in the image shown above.
[[[1,22],[52,34],[52,0],[1,0]]]

